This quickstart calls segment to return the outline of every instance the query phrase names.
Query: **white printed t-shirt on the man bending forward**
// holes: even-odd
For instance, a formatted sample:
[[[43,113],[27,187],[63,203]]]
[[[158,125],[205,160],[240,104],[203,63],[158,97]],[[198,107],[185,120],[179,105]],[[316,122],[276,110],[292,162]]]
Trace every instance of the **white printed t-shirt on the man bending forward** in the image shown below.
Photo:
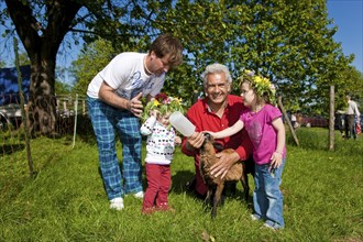
[[[144,69],[146,54],[125,52],[117,55],[88,85],[87,96],[98,98],[98,91],[105,80],[116,92],[128,100],[148,94],[154,97],[163,88],[165,74],[148,76]]]

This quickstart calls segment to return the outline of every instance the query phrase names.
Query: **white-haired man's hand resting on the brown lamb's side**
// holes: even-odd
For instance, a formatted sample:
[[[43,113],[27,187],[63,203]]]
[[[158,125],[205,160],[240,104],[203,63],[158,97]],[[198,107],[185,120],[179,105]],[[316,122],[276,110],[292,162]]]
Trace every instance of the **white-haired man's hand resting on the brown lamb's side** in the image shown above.
[[[220,152],[216,154],[216,157],[219,158],[219,161],[210,167],[210,173],[215,175],[215,177],[221,176],[221,178],[227,175],[234,163],[240,161],[240,155],[237,152],[232,154]]]

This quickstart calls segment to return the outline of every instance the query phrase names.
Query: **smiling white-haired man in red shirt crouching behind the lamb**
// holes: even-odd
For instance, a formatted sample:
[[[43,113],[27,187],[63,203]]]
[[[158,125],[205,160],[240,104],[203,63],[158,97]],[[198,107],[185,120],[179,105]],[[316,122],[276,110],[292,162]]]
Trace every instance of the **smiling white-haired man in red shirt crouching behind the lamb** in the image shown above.
[[[206,98],[198,100],[187,112],[187,118],[196,125],[196,133],[183,141],[182,151],[188,156],[195,157],[196,179],[195,191],[204,197],[207,193],[199,172],[199,147],[204,142],[201,131],[221,131],[240,118],[241,110],[244,109],[242,98],[230,95],[232,78],[227,66],[212,64],[207,66],[201,75]],[[245,130],[240,131],[231,138],[217,140],[224,148],[233,148],[231,155],[217,154],[219,162],[212,166],[216,176],[226,176],[230,167],[240,161],[246,161],[252,154],[252,144]],[[251,166],[253,167],[251,161]]]

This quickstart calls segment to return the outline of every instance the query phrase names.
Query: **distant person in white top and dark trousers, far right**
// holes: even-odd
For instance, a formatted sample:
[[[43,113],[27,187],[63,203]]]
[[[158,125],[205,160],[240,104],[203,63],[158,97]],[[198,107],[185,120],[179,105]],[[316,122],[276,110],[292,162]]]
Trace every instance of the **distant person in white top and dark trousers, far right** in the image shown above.
[[[350,95],[345,96],[348,102],[348,110],[345,113],[345,139],[353,138],[356,140],[355,118],[360,122],[361,113],[358,110],[356,102],[352,100]]]

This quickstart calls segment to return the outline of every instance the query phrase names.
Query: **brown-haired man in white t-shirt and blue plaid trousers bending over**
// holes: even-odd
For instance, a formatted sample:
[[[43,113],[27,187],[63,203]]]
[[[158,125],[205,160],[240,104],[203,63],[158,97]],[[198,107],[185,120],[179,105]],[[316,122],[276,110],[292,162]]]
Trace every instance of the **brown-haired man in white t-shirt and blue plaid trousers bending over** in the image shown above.
[[[179,40],[163,34],[145,53],[121,53],[91,80],[87,90],[89,117],[97,138],[100,169],[110,208],[123,209],[123,195],[143,198],[140,120],[142,97],[157,95],[165,73],[183,59]],[[122,143],[122,174],[116,132]]]

